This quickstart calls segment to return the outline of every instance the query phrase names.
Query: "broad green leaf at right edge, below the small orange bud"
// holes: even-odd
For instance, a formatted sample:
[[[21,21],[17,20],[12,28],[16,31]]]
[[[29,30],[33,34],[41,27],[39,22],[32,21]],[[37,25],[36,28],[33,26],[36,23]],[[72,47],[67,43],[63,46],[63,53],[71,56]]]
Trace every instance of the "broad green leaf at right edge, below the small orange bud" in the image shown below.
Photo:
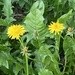
[[[65,54],[75,53],[75,39],[71,38],[69,36],[65,36],[64,42],[63,42],[63,48],[65,51]]]

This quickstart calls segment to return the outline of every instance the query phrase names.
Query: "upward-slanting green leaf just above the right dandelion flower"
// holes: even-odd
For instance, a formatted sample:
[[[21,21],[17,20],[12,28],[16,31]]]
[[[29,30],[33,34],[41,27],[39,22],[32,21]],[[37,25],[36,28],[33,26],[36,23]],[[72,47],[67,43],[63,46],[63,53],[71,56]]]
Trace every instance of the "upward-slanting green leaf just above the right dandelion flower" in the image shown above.
[[[68,19],[70,19],[72,16],[73,16],[73,12],[71,9],[68,13],[66,13],[66,14],[62,15],[60,18],[58,18],[57,21],[59,21],[60,23],[66,23],[66,21]]]

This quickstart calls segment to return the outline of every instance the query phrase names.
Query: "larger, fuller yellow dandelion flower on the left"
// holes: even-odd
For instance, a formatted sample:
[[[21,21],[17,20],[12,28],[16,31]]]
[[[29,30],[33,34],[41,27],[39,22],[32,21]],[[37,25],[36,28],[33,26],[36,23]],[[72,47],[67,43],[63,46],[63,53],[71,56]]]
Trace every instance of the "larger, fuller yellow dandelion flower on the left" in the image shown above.
[[[21,25],[12,25],[8,28],[7,34],[11,39],[19,39],[25,33],[25,29]]]

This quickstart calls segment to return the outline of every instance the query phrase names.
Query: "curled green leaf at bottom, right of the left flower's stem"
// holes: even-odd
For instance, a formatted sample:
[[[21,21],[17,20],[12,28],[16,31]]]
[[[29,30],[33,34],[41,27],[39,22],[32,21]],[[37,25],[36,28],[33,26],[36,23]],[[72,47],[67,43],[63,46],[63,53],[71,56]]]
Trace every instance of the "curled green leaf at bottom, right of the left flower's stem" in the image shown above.
[[[59,65],[58,65],[59,63],[48,48],[49,47],[47,45],[43,45],[39,49],[39,54],[43,66],[49,69],[50,71],[52,71],[54,75],[61,75]]]

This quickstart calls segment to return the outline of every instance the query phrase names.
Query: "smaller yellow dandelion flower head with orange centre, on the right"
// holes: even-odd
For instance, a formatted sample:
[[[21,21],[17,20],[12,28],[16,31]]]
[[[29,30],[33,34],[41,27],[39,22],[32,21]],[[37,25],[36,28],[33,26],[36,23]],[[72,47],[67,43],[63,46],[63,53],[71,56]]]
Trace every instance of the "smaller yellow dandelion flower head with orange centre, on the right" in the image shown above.
[[[55,33],[56,34],[59,34],[59,32],[61,32],[63,29],[64,29],[64,25],[62,23],[59,23],[59,22],[52,22],[50,25],[49,25],[49,31],[51,33]]]

